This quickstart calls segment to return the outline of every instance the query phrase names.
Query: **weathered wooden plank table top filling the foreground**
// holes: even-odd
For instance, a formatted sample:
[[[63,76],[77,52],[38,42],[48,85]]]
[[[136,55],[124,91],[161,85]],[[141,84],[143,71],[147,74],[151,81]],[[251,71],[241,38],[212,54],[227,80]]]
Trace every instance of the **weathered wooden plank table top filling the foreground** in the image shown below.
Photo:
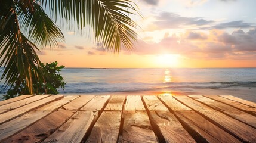
[[[0,142],[256,142],[256,104],[231,95],[21,95]]]

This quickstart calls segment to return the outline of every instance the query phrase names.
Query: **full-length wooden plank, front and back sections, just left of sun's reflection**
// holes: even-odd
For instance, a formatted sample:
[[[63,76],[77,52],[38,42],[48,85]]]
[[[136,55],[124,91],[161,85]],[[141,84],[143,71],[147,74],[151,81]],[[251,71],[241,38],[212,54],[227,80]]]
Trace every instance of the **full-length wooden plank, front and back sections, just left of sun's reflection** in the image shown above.
[[[174,114],[170,113],[156,96],[143,96],[143,101],[159,142],[195,142]],[[182,104],[181,107],[183,106]]]

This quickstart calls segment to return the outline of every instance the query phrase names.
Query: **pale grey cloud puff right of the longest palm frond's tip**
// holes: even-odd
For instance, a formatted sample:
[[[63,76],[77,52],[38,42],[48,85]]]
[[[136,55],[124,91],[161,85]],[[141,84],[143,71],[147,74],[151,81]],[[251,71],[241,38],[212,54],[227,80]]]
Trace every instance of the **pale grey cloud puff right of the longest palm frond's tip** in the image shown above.
[[[156,21],[148,30],[176,29],[184,26],[204,26],[213,21],[204,20],[201,17],[182,17],[181,15],[169,12],[162,12],[155,17]]]

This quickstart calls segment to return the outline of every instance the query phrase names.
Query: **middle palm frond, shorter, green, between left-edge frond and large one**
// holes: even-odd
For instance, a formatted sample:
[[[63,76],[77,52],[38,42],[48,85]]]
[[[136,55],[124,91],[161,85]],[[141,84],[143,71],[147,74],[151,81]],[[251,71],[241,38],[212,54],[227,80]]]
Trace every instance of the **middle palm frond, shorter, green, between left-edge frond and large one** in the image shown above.
[[[27,38],[42,48],[57,47],[58,42],[64,42],[63,33],[57,24],[45,14],[40,5],[36,2],[32,2],[32,5],[33,13],[24,11],[20,5],[17,5],[16,10],[21,31]]]

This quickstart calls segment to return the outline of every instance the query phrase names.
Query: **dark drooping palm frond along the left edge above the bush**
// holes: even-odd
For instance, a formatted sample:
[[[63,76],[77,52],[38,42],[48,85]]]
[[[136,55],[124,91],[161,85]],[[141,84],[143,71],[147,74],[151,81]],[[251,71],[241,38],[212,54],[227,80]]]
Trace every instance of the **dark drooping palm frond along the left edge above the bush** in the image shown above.
[[[5,67],[1,80],[5,78],[5,83],[12,86],[18,79],[25,79],[33,94],[32,74],[42,81],[48,76],[47,71],[40,67],[36,46],[20,32],[14,3],[6,1],[0,10],[6,11],[0,14],[0,66]]]

